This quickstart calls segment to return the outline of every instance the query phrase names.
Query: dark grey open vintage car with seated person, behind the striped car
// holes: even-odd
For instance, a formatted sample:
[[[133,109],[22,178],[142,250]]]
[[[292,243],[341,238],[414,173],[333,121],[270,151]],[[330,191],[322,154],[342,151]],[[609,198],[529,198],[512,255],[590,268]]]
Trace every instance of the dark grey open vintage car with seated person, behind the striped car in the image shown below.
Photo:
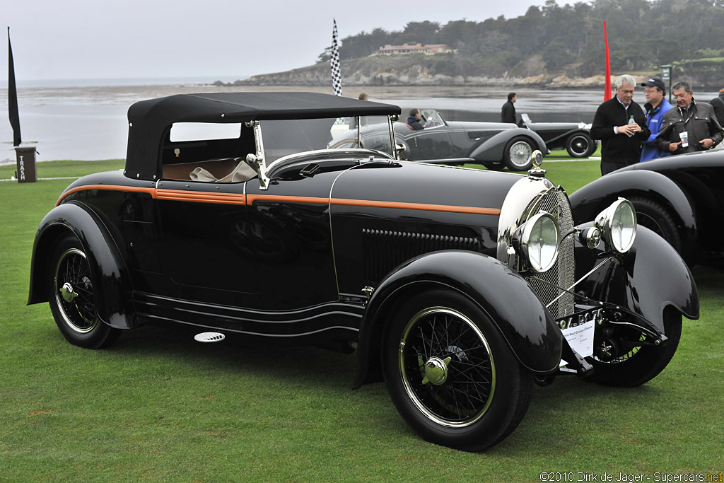
[[[445,164],[483,164],[488,169],[526,171],[531,168],[531,154],[546,152],[543,139],[531,130],[506,122],[451,122],[434,109],[421,109],[422,130],[407,123],[395,122],[395,143],[405,148],[404,159],[435,160]],[[361,120],[358,136],[355,128],[335,136],[331,148],[363,147],[390,151],[386,119]],[[353,126],[356,126],[352,123]],[[360,140],[360,145],[357,140]]]

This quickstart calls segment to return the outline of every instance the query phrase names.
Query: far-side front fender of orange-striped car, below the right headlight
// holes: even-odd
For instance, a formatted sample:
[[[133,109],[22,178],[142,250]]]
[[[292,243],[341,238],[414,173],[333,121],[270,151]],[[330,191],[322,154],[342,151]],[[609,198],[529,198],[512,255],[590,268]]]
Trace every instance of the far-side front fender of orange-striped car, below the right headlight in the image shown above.
[[[601,249],[591,250],[576,241],[576,279],[604,259]],[[689,319],[699,318],[699,292],[689,266],[666,240],[640,225],[631,251],[595,270],[576,291],[581,289],[594,301],[614,303],[643,316],[662,333],[668,306]]]

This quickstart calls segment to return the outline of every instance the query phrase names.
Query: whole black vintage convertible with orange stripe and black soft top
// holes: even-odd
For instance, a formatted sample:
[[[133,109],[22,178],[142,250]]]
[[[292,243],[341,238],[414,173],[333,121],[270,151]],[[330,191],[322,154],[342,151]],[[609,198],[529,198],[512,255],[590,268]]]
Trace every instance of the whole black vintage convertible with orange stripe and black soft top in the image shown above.
[[[574,224],[540,153],[528,175],[400,161],[399,112],[313,93],[133,104],[125,170],[72,182],[43,218],[28,303],[84,348],[164,323],[356,350],[355,387],[384,379],[418,434],[462,450],[510,434],[534,381],[664,369],[699,298],[631,203]],[[335,119],[367,115],[390,151],[327,148]]]

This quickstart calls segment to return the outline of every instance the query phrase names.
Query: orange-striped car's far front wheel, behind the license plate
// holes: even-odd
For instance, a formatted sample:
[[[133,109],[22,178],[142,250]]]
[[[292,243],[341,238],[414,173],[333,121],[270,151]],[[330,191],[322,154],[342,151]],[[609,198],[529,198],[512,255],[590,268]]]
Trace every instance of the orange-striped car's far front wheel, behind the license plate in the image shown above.
[[[669,364],[681,340],[681,314],[674,308],[664,311],[666,345],[648,345],[644,333],[621,326],[594,343],[589,361],[593,374],[586,378],[602,385],[635,387],[656,377]],[[612,356],[608,356],[613,354]]]

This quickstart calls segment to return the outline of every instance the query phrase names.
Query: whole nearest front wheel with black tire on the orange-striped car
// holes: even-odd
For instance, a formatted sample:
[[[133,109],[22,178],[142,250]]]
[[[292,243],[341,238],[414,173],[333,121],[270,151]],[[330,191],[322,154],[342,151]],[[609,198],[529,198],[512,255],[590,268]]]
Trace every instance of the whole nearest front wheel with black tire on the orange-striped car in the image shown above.
[[[421,437],[479,451],[513,432],[528,409],[533,377],[479,306],[430,290],[405,301],[388,322],[387,390]]]

